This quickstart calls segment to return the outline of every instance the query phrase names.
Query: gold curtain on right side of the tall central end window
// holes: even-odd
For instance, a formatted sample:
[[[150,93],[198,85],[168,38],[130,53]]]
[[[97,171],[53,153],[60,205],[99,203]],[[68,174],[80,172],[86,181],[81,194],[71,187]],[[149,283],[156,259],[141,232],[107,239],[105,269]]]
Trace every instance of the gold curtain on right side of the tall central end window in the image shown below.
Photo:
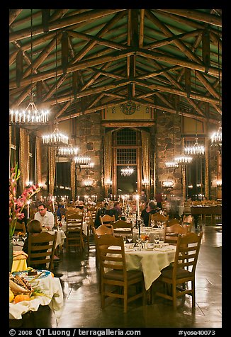
[[[141,131],[142,139],[142,176],[146,185],[147,199],[150,197],[150,133],[144,130]]]

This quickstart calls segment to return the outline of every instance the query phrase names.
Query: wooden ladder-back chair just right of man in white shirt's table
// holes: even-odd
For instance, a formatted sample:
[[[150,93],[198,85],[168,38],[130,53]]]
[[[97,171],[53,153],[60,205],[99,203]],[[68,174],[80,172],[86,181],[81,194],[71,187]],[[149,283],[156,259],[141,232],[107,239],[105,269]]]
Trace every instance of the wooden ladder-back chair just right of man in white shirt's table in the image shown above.
[[[67,231],[66,231],[66,246],[67,251],[70,247],[79,249],[80,253],[84,248],[83,238],[83,220],[84,215],[79,213],[67,214]]]

